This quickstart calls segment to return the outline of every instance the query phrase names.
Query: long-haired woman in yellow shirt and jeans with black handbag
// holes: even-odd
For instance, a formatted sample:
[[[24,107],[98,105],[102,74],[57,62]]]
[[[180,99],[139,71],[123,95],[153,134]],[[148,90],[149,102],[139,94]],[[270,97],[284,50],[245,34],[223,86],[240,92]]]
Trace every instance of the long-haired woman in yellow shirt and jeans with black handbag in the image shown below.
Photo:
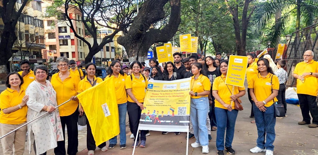
[[[266,155],[273,155],[276,124],[274,102],[278,101],[276,96],[279,81],[267,59],[260,58],[257,61],[257,67],[259,73],[251,79],[248,85],[251,97],[255,102],[253,110],[258,133],[257,145],[250,151],[252,153],[266,151]]]

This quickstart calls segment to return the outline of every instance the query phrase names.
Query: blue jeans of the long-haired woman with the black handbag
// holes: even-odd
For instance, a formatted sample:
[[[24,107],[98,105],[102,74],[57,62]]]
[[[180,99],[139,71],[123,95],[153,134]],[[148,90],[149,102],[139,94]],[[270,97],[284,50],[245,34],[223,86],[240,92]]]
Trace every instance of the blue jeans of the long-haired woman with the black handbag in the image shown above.
[[[276,117],[274,114],[274,104],[270,107],[265,107],[266,111],[260,111],[255,104],[253,104],[255,123],[257,127],[258,138],[256,140],[257,147],[267,150],[274,150],[274,140],[275,140],[275,124]],[[266,142],[265,142],[266,135]]]

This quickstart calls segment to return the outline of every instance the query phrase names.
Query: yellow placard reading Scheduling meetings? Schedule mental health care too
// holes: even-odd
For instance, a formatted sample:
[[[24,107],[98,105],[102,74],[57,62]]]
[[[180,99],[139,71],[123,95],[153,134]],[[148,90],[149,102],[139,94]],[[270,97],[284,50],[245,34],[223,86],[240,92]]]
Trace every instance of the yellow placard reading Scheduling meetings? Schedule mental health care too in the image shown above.
[[[247,59],[246,56],[230,55],[225,79],[226,84],[244,87]]]

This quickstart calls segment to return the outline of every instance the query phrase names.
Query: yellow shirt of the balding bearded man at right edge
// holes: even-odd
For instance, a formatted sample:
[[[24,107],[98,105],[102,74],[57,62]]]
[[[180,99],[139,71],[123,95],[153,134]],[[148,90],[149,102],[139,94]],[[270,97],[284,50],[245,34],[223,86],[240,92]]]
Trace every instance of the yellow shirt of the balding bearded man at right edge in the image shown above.
[[[318,73],[318,62],[311,60],[309,63],[300,62],[296,65],[294,74],[301,75],[303,73]],[[301,80],[297,79],[297,94],[306,94],[317,96],[318,93],[318,80],[315,76],[307,75],[305,76],[305,82],[302,83]]]

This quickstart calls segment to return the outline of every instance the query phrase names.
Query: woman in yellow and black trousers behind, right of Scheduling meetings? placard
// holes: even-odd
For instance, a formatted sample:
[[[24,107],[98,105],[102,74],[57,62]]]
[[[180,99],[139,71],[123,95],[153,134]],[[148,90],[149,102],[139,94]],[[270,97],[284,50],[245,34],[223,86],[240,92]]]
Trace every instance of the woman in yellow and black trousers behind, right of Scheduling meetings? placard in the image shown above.
[[[258,74],[257,70],[257,58],[252,53],[247,54],[247,69],[246,69],[246,79],[247,84],[249,85],[251,83],[252,77],[254,77],[256,74]],[[251,102],[252,108],[251,108],[251,118],[254,118],[254,111],[253,111],[253,100],[250,95],[250,88],[247,88],[247,94],[248,94],[248,100]],[[255,120],[253,120],[251,123],[255,123]]]

